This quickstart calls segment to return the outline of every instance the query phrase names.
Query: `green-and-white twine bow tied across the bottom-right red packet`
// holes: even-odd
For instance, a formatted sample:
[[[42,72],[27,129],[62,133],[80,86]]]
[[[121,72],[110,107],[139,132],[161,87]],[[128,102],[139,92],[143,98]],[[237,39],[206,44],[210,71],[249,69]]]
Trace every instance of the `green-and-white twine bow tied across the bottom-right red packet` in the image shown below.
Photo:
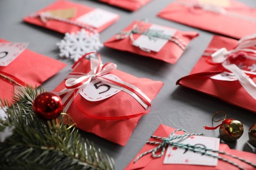
[[[183,135],[175,135],[175,133],[177,131],[183,131],[184,134]],[[233,161],[227,160],[226,158],[223,158],[221,156],[215,155],[213,153],[219,153],[219,154],[224,154],[226,156],[230,156],[232,158],[235,158],[237,160],[243,161],[253,167],[256,167],[256,165],[254,163],[251,163],[250,161],[244,160],[243,158],[240,158],[238,156],[234,156],[232,154],[228,154],[226,152],[223,152],[221,150],[213,150],[213,149],[209,149],[209,148],[205,148],[203,146],[200,145],[192,145],[192,144],[183,144],[183,143],[179,143],[180,141],[183,141],[184,139],[192,136],[192,135],[203,135],[203,133],[191,133],[191,134],[187,134],[186,131],[184,129],[176,129],[175,131],[173,131],[171,133],[171,135],[169,135],[169,137],[158,137],[158,136],[152,136],[152,138],[154,139],[158,139],[161,140],[161,142],[154,142],[154,141],[148,141],[147,144],[156,144],[158,146],[156,146],[156,148],[153,148],[152,150],[148,150],[146,152],[143,152],[142,154],[140,154],[134,161],[134,163],[136,163],[140,158],[142,158],[143,156],[145,156],[146,154],[150,154],[152,153],[152,157],[153,158],[161,158],[161,156],[163,156],[164,152],[165,152],[165,147],[167,145],[171,145],[171,146],[176,146],[178,148],[184,148],[186,150],[191,150],[193,152],[196,153],[200,153],[203,154],[204,156],[211,156],[213,158],[217,158],[219,160],[223,160],[226,161],[227,163],[230,163],[231,165],[234,165],[236,167],[238,167],[239,169],[244,169],[243,167],[241,167],[240,165],[238,165],[237,163],[234,163]],[[177,141],[174,141],[175,139],[180,139]],[[161,150],[160,154],[156,154],[156,152],[158,152],[159,150]]]

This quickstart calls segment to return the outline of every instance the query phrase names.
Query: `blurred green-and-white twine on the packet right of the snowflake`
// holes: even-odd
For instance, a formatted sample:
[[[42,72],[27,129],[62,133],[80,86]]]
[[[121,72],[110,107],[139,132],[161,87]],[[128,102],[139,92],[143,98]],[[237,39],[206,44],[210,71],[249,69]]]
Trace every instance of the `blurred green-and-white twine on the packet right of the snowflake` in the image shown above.
[[[186,48],[186,42],[182,41],[181,38],[177,37],[176,35],[167,35],[163,33],[164,30],[161,29],[150,29],[144,25],[143,21],[138,22],[137,24],[133,25],[133,29],[129,31],[122,31],[116,34],[116,39],[125,39],[129,37],[131,41],[133,41],[133,45],[138,46],[141,50],[150,52],[148,48],[144,48],[140,46],[139,44],[136,44],[135,39],[133,38],[134,34],[140,34],[140,35],[146,35],[148,36],[148,39],[167,39],[169,41],[174,42],[177,44],[182,50],[185,50]]]

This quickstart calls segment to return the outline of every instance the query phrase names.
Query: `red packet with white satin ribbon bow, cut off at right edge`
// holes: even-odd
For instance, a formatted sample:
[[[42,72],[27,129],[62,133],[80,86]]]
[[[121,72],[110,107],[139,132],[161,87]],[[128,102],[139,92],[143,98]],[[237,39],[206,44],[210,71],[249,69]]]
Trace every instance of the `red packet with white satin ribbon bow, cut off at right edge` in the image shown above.
[[[240,41],[215,35],[202,58],[177,84],[256,112],[256,34]]]

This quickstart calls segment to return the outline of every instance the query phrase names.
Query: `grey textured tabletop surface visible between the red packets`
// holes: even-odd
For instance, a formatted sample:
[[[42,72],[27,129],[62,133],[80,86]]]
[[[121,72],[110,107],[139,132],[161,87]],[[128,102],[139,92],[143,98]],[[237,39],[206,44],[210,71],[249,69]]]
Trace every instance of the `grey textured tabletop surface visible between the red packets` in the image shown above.
[[[236,143],[228,143],[230,148],[253,152],[253,148],[250,148],[247,144],[247,131],[250,126],[256,123],[255,113],[234,107],[209,95],[175,85],[175,82],[179,78],[190,73],[207,47],[207,44],[211,41],[213,33],[158,18],[156,16],[158,12],[171,3],[171,0],[152,0],[148,5],[135,12],[112,7],[98,1],[72,1],[90,7],[110,10],[120,15],[116,23],[100,33],[100,40],[102,42],[110,39],[117,31],[121,31],[121,29],[134,20],[142,18],[148,18],[151,23],[167,25],[180,29],[181,31],[197,31],[200,33],[198,38],[190,42],[182,57],[174,65],[135,54],[119,52],[110,48],[102,48],[99,51],[104,63],[113,62],[117,64],[119,70],[131,75],[164,82],[163,88],[152,102],[152,110],[145,116],[142,116],[126,146],[119,146],[100,137],[96,137],[96,135],[91,133],[81,131],[83,137],[93,141],[103,152],[114,158],[116,169],[123,169],[134,158],[160,124],[183,128],[192,133],[205,133],[209,137],[218,137],[218,130],[205,131],[203,126],[211,125],[213,113],[219,110],[228,113],[228,118],[235,118],[244,124],[244,135]],[[68,75],[70,66],[73,63],[70,59],[58,58],[56,42],[60,41],[64,35],[43,27],[26,24],[22,22],[22,18],[43,7],[47,7],[47,5],[53,2],[53,0],[0,1],[1,39],[12,42],[29,42],[29,50],[59,59],[68,64],[68,67],[43,84],[47,90],[53,90]],[[244,0],[242,2],[251,7],[256,7],[255,1]]]

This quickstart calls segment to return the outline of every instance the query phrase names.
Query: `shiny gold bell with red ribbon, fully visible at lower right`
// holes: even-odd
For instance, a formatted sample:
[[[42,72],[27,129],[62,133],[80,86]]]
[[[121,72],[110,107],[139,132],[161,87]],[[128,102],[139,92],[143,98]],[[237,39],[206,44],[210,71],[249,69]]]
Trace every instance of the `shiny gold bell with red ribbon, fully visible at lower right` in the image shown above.
[[[244,133],[244,126],[238,120],[228,120],[223,121],[219,128],[219,133],[221,135],[221,139],[225,141],[236,141],[238,140]],[[255,139],[256,140],[256,139]]]

